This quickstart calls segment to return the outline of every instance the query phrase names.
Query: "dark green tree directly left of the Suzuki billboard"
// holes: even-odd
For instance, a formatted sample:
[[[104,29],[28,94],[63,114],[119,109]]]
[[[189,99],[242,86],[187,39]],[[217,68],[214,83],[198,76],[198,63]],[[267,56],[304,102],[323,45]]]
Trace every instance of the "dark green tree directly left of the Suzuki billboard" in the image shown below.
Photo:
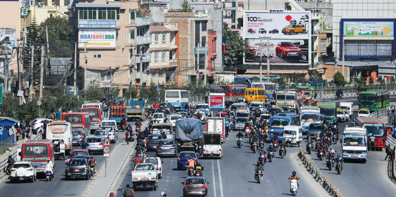
[[[245,48],[246,42],[237,32],[225,29],[223,35],[227,40],[223,53],[224,66],[228,70],[233,70],[238,68],[237,65],[243,65],[244,55],[249,53],[249,50]]]

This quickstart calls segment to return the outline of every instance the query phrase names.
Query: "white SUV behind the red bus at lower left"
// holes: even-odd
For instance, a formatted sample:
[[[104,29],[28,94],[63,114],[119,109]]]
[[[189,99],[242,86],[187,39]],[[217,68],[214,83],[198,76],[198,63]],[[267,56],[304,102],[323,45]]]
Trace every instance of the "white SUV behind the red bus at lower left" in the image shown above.
[[[11,167],[11,182],[29,180],[36,181],[36,168],[31,161],[17,161]]]

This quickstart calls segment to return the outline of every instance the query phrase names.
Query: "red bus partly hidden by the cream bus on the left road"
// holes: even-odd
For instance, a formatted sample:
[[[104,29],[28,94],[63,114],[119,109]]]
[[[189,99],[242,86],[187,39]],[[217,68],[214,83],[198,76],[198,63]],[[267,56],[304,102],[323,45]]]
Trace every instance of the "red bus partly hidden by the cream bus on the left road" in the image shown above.
[[[88,112],[66,113],[62,116],[62,120],[70,122],[71,128],[81,128],[84,133],[91,133],[91,118]]]

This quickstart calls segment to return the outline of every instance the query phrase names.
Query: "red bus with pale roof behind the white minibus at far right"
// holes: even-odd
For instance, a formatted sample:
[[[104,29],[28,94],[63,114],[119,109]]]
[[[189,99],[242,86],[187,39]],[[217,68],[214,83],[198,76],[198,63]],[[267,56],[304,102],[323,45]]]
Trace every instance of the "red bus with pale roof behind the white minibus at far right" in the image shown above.
[[[367,137],[370,138],[371,135],[375,137],[375,148],[381,149],[385,148],[385,124],[378,118],[374,117],[357,117],[356,123],[358,125],[363,125],[367,129]]]

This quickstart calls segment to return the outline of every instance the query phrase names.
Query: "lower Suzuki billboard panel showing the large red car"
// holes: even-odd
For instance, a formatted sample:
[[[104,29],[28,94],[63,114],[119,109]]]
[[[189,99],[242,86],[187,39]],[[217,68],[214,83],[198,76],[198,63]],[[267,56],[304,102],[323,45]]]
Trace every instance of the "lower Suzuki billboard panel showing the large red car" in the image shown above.
[[[260,53],[260,39],[245,39],[246,48],[250,53],[245,54],[245,63],[267,62],[270,57],[270,64],[308,64],[308,39],[267,39],[262,40]]]

